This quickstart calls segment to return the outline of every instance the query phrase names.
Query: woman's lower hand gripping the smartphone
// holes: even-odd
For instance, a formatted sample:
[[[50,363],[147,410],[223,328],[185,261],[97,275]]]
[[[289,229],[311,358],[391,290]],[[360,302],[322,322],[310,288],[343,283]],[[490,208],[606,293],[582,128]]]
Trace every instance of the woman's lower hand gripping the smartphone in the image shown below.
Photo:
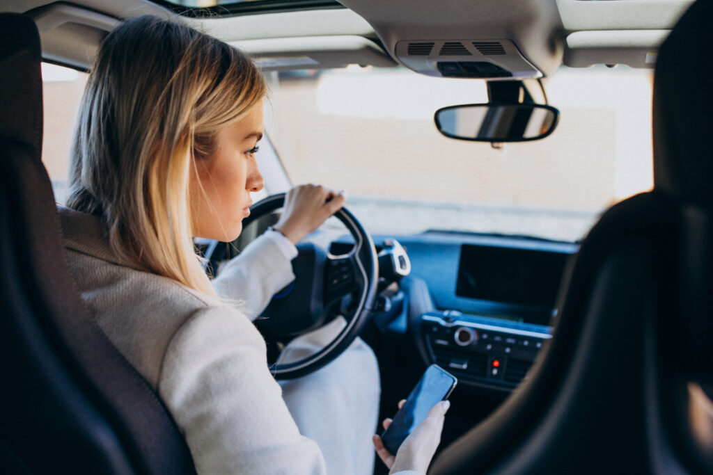
[[[406,402],[406,400],[399,402],[399,409],[404,406],[404,402]],[[384,443],[381,442],[381,437],[374,435],[376,454],[378,454],[381,461],[389,467],[389,473],[393,474],[401,470],[415,470],[422,474],[426,473],[429,464],[431,464],[431,459],[436,453],[436,448],[438,444],[441,443],[443,421],[450,406],[451,402],[441,401],[436,403],[434,407],[431,407],[429,415],[424,422],[421,422],[421,424],[409,434],[409,437],[406,437],[395,456],[390,454],[386,447],[384,447]],[[384,419],[383,425],[384,429],[387,429],[389,425],[391,425],[391,419]]]

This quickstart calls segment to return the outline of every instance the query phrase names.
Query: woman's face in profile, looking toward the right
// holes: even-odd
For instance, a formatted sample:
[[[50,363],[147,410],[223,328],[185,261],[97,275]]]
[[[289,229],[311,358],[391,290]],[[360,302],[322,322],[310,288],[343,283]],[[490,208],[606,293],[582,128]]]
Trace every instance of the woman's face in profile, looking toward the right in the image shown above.
[[[217,133],[215,150],[195,160],[190,176],[193,236],[232,241],[250,214],[250,192],[265,186],[255,162],[262,138],[262,100],[244,118]]]

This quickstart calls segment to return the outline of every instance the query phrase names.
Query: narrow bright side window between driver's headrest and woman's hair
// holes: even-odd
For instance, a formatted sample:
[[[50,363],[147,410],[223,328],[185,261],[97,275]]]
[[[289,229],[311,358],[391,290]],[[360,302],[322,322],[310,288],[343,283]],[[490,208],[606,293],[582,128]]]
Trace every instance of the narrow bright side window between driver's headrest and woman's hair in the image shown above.
[[[67,194],[69,154],[87,74],[42,63],[44,136],[42,162],[52,181],[54,199],[64,203]]]

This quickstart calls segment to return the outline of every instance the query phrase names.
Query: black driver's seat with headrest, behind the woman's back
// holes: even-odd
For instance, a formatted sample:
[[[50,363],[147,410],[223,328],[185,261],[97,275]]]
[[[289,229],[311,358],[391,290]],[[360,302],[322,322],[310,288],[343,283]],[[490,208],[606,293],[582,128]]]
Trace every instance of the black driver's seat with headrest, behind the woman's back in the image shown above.
[[[0,473],[195,474],[73,285],[41,163],[37,29],[0,15]]]

